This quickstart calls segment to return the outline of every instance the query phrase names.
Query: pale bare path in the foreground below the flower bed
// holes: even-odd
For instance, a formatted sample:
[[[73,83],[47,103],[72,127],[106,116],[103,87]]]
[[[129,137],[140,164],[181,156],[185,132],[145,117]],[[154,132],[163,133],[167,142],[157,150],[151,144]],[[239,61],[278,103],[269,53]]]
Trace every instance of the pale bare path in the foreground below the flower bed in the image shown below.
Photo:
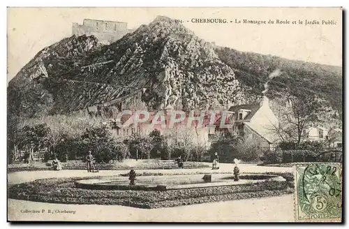
[[[22,213],[25,209],[38,210],[40,213]],[[45,212],[41,213],[43,209]],[[49,214],[49,209],[52,212],[56,209],[65,209],[75,211],[75,214]],[[293,217],[292,195],[161,209],[139,209],[119,205],[61,205],[8,200],[8,220],[10,221],[36,219],[37,221],[287,222],[292,221]]]

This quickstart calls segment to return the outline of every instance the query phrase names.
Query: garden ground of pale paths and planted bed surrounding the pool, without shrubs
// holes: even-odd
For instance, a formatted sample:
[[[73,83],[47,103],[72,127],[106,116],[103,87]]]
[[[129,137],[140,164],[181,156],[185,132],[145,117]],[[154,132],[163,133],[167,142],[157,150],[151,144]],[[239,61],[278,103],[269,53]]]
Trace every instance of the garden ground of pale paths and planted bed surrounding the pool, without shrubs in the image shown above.
[[[231,163],[221,163],[218,171],[211,170],[211,166],[171,170],[135,169],[139,175],[135,184],[138,184],[141,177],[204,177],[205,174],[232,176],[233,169],[234,164]],[[251,221],[248,216],[258,214],[255,221],[269,221],[274,218],[292,221],[292,168],[240,164],[239,170],[242,179],[244,174],[264,174],[283,176],[286,181],[166,191],[99,190],[80,189],[74,182],[96,178],[128,180],[127,174],[130,170],[99,170],[94,173],[87,170],[11,172],[8,174],[8,207],[13,219],[30,219],[31,214],[21,214],[19,209],[66,209],[74,210],[76,214],[43,214],[36,217],[68,221]],[[233,179],[231,182],[234,182]],[[272,214],[272,209],[279,211],[283,217]]]

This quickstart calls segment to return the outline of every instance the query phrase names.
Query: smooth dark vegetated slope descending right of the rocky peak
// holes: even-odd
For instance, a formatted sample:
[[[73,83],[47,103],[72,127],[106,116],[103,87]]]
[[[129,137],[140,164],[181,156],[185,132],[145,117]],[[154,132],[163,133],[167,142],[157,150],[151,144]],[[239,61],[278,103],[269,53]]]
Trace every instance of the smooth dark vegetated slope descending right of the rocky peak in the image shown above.
[[[274,98],[284,91],[292,94],[317,95],[328,105],[342,111],[342,68],[304,61],[283,59],[272,55],[239,52],[228,47],[217,47],[219,58],[235,70],[237,79],[253,94],[262,94],[268,75],[276,69],[283,73],[269,84],[268,96]]]

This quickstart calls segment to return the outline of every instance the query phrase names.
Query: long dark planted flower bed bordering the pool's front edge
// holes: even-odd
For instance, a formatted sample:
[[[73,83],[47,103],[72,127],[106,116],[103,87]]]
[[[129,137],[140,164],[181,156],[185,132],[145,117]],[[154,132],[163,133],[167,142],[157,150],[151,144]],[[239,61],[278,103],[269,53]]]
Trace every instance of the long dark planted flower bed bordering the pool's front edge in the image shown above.
[[[96,177],[94,177],[96,178]],[[124,205],[140,208],[174,207],[203,202],[262,198],[293,193],[290,182],[265,181],[255,184],[170,191],[77,189],[75,178],[38,179],[8,187],[8,198],[80,205]]]

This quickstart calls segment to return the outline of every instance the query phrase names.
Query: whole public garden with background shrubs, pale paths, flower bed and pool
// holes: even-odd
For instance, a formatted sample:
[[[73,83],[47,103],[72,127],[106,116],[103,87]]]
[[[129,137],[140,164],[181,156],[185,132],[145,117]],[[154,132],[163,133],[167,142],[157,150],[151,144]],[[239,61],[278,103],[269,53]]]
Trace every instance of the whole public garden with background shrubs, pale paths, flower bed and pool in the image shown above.
[[[23,220],[31,214],[23,216],[19,209],[74,209],[80,212],[79,219],[91,221],[249,221],[248,215],[255,211],[260,211],[259,221],[292,221],[292,165],[331,159],[318,157],[306,147],[261,152],[253,142],[229,136],[216,139],[205,151],[183,139],[171,148],[156,132],[149,138],[115,142],[105,129],[93,128],[82,134],[84,138],[62,135],[52,142],[45,125],[24,126],[24,131],[29,136],[22,144],[24,159],[17,149],[8,164],[9,215]],[[54,154],[40,154],[38,146],[53,149]],[[90,149],[95,163],[88,172],[84,156]],[[220,156],[216,170],[212,170],[214,152]],[[179,156],[183,168],[174,160]],[[62,170],[52,169],[54,157],[59,158]],[[87,209],[98,211],[82,214]]]

